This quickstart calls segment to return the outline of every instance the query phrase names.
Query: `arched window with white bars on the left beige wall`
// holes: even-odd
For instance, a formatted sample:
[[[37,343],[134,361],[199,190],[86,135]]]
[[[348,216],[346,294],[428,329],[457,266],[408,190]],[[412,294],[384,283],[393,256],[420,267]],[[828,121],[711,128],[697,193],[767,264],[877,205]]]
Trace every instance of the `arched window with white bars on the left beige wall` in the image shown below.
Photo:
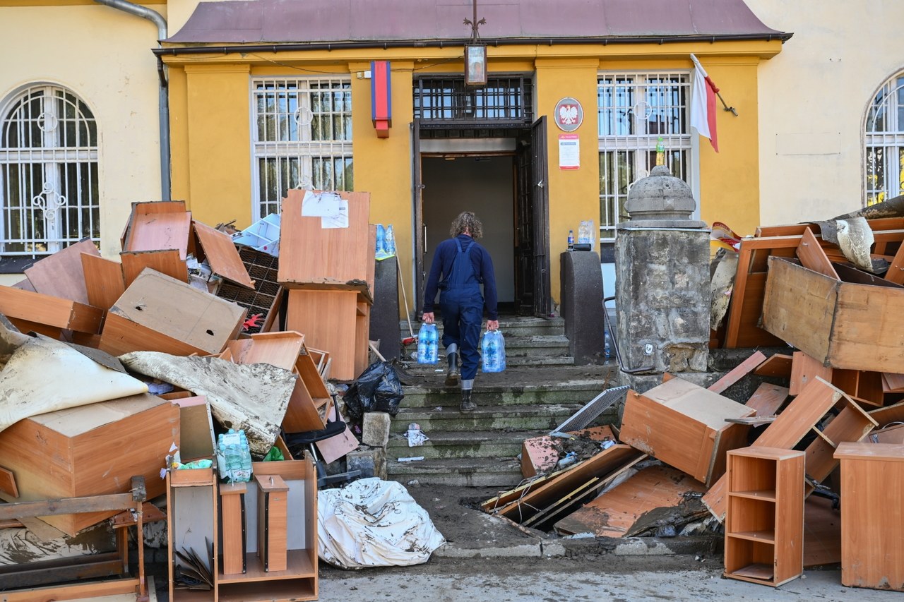
[[[33,84],[0,105],[0,252],[37,257],[100,239],[98,127],[70,90]]]

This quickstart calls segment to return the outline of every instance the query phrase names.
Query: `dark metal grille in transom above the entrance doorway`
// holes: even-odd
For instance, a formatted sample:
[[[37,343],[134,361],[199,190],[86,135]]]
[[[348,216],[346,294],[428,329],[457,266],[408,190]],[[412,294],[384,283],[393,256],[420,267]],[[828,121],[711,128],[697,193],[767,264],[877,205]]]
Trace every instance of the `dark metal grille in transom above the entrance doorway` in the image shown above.
[[[522,75],[491,77],[470,88],[460,76],[415,80],[414,116],[420,127],[524,127],[533,121],[532,80]]]

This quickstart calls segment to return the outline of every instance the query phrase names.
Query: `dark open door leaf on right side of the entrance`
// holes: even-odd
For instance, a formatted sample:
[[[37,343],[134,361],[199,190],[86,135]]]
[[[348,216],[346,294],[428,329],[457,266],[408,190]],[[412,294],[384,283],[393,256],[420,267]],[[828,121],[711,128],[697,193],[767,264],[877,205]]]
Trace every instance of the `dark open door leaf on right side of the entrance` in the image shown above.
[[[521,315],[551,312],[546,117],[518,142],[515,194],[515,308]]]

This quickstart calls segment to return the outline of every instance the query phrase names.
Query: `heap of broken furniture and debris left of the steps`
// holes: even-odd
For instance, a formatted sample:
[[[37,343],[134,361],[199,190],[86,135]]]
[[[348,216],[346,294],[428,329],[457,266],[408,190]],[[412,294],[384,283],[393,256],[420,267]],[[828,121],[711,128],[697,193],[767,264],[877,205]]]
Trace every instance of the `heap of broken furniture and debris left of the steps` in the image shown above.
[[[293,455],[284,436],[341,422],[327,378],[366,367],[375,230],[367,193],[310,196],[257,247],[136,202],[120,261],[83,240],[0,287],[5,600],[145,597],[127,531],[142,555],[155,521],[171,600],[317,597],[318,467],[358,441],[341,424]],[[250,480],[223,482],[218,437],[239,433]]]

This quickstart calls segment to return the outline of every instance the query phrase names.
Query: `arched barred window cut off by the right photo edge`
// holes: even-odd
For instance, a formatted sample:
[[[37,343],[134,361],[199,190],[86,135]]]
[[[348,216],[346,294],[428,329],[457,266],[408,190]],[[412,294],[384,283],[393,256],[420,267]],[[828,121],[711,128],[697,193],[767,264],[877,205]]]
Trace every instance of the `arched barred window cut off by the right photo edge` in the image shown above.
[[[904,193],[904,72],[882,84],[866,111],[867,205]]]

